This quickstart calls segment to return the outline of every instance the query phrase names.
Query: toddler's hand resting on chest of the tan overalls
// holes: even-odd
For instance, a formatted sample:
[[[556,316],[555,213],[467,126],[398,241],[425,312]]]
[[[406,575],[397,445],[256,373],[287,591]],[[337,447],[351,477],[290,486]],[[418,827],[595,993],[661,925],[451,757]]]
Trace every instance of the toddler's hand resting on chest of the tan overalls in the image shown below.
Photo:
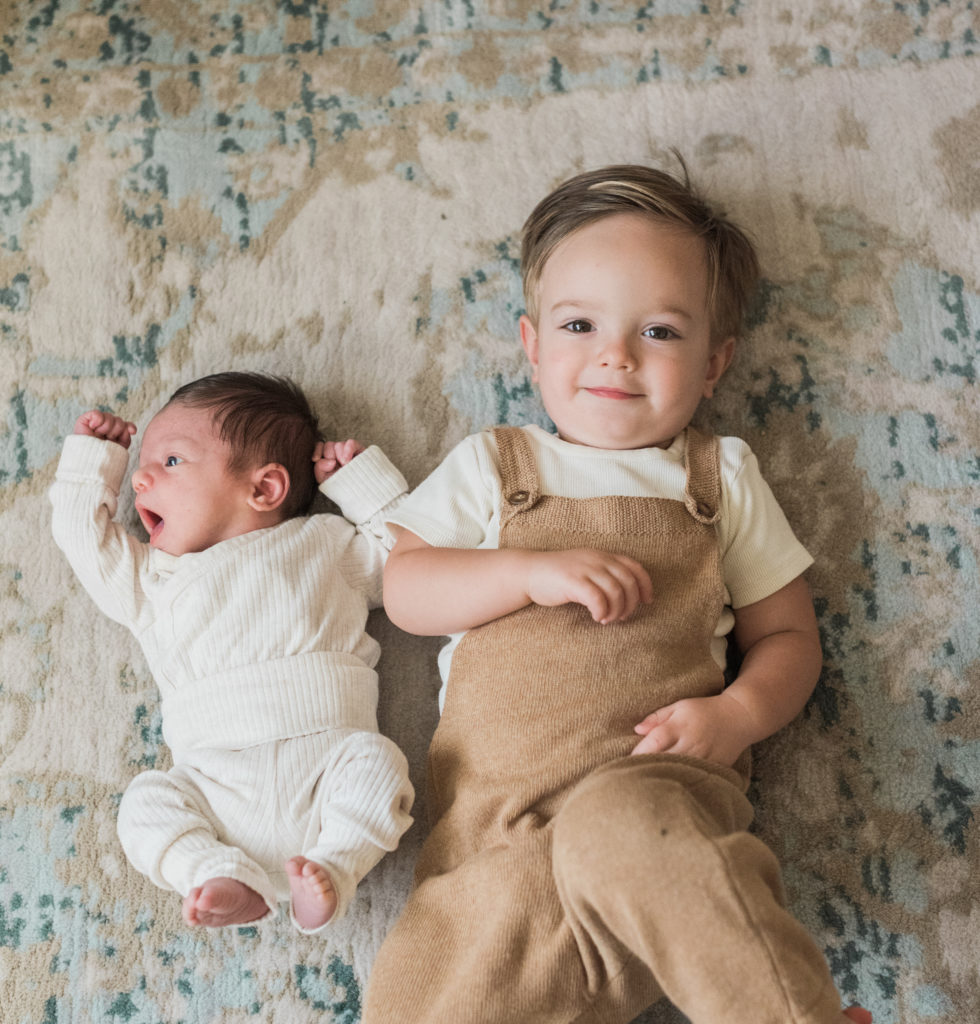
[[[629,618],[653,598],[643,566],[625,555],[589,548],[535,553],[527,574],[527,596],[535,604],[582,604],[603,626]]]

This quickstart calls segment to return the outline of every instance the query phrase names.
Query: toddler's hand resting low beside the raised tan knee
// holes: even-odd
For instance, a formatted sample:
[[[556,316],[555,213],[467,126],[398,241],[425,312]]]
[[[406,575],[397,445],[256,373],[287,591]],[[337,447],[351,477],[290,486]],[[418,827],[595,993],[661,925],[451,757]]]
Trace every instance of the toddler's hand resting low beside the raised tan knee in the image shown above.
[[[727,693],[678,700],[634,727],[643,738],[631,754],[686,754],[731,767],[753,742],[752,719]]]

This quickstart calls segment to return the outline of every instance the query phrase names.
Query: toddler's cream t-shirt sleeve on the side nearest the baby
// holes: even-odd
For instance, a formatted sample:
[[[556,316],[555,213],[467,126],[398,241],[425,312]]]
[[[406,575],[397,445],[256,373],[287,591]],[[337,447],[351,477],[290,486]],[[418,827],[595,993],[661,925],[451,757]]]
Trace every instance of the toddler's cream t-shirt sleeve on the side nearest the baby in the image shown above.
[[[434,548],[478,548],[500,504],[488,433],[464,438],[387,519]]]

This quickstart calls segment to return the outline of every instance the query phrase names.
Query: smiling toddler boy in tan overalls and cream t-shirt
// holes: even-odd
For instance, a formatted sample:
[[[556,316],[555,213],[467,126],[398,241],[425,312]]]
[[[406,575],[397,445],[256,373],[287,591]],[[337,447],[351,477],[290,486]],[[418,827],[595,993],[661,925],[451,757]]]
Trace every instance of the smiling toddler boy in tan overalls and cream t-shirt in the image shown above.
[[[608,167],[538,206],[522,264],[557,434],[469,437],[390,517],[385,607],[452,640],[365,1024],[625,1024],[663,995],[692,1024],[867,1020],[748,830],[749,748],[820,671],[810,556],[748,446],[690,426],[753,247],[686,181]]]

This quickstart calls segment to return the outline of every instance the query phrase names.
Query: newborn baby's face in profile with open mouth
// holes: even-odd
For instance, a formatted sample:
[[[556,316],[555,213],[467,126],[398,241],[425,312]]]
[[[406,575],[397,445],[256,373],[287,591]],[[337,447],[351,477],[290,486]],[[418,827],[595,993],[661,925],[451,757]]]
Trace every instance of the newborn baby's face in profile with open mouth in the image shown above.
[[[150,421],[132,485],[153,547],[184,555],[254,528],[251,475],[232,473],[230,455],[209,410],[177,403]]]

